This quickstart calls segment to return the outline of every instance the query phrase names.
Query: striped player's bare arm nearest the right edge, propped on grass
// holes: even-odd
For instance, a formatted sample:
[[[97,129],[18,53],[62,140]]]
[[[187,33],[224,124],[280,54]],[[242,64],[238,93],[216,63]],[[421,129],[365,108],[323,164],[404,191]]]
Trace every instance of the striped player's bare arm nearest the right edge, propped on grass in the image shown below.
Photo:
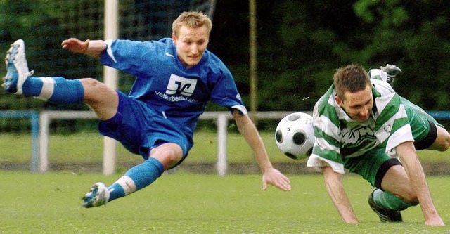
[[[433,204],[428,183],[425,180],[425,173],[423,172],[422,164],[418,160],[413,143],[411,141],[404,142],[397,145],[395,149],[419,200],[420,208],[425,218],[425,225],[444,226],[444,221],[437,214],[435,204]]]

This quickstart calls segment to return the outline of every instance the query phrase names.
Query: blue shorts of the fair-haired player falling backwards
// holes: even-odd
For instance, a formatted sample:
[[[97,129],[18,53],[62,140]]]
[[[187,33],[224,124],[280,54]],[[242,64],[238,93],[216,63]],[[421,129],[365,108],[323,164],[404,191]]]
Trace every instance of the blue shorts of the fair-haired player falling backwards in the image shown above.
[[[151,148],[162,143],[176,143],[183,150],[184,160],[193,146],[191,134],[181,131],[181,127],[143,101],[129,98],[120,91],[117,94],[117,113],[98,124],[98,131],[103,136],[114,138],[144,160],[148,159]]]

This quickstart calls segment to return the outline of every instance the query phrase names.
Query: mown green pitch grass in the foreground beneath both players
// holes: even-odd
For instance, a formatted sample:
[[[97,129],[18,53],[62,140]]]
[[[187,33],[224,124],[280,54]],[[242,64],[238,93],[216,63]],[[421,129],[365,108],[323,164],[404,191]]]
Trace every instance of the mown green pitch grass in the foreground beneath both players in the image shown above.
[[[346,176],[359,225],[345,225],[321,176],[288,175],[293,190],[262,191],[259,175],[163,174],[137,193],[84,209],[92,183],[119,175],[0,171],[0,233],[450,233],[423,225],[419,207],[404,223],[381,223],[367,204],[371,186]],[[428,178],[438,212],[450,223],[449,177]]]

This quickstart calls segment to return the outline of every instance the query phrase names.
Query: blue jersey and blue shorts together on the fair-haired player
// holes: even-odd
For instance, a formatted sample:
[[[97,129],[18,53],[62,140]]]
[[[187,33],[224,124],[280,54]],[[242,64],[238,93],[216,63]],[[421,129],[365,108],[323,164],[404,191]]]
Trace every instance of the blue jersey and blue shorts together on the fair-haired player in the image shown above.
[[[231,72],[210,51],[197,65],[186,68],[169,38],[105,43],[101,63],[136,80],[128,97],[118,91],[117,114],[101,122],[99,129],[129,151],[148,158],[148,148],[172,142],[181,146],[186,157],[198,118],[210,100],[247,114]]]

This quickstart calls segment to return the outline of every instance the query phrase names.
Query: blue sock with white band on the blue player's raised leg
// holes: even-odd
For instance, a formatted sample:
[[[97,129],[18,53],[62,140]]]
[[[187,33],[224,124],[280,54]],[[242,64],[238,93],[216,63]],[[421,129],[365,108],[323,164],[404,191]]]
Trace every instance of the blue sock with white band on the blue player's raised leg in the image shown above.
[[[78,79],[28,77],[23,93],[55,104],[83,103],[84,88]]]

